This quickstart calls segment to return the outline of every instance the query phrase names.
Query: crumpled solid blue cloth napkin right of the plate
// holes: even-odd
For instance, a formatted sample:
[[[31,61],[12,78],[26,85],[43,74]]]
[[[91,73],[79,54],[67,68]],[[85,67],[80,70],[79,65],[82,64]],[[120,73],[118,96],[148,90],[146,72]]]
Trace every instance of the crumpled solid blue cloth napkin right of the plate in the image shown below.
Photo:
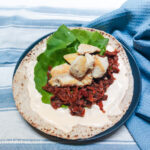
[[[134,55],[141,71],[142,94],[126,126],[138,146],[150,150],[150,0],[128,0],[86,26],[112,34]]]

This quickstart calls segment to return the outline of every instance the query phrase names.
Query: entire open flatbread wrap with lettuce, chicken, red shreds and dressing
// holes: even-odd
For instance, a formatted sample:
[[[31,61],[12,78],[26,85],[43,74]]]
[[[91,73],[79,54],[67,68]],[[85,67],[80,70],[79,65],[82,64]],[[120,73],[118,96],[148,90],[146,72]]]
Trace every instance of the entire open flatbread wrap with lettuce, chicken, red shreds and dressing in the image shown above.
[[[110,34],[91,28],[60,26],[31,49],[13,79],[22,116],[64,139],[89,138],[112,127],[132,95],[125,50]]]

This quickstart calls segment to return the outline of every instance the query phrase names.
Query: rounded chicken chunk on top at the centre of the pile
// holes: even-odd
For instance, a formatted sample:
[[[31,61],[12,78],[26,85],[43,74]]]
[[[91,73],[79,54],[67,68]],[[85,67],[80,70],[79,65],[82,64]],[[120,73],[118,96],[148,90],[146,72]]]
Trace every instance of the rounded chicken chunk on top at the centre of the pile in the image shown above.
[[[86,57],[78,56],[71,64],[70,73],[76,78],[82,78],[86,74],[88,67],[86,65]]]

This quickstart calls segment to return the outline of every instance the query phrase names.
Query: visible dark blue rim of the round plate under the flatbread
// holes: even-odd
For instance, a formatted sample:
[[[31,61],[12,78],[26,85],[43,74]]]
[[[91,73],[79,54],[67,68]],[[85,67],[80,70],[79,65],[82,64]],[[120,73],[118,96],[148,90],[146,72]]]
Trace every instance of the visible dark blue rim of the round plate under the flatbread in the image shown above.
[[[15,71],[14,74],[20,64],[20,62],[22,61],[22,59],[27,55],[27,53],[36,45],[38,44],[41,40],[43,40],[44,38],[46,38],[47,36],[51,35],[47,34],[45,36],[43,36],[42,38],[38,39],[37,41],[35,41],[31,46],[29,46],[24,53],[21,55],[20,59],[18,60],[16,67],[15,67]],[[123,44],[122,44],[123,45]],[[139,97],[140,97],[140,93],[141,93],[141,77],[140,77],[140,71],[138,69],[138,66],[136,64],[135,59],[133,58],[133,56],[131,55],[131,53],[129,52],[129,50],[123,46],[126,54],[128,56],[129,62],[130,62],[130,66],[132,69],[132,74],[133,74],[133,78],[134,78],[134,91],[133,91],[133,98],[131,101],[131,104],[128,108],[128,110],[126,111],[126,113],[124,114],[124,116],[121,118],[121,120],[119,122],[117,122],[114,126],[110,127],[109,129],[107,129],[106,131],[97,134],[91,138],[87,138],[87,139],[78,139],[78,140],[67,140],[67,139],[61,139],[61,138],[57,138],[54,136],[50,136],[50,135],[46,135],[45,133],[43,133],[42,131],[37,130],[40,134],[44,134],[47,138],[49,138],[50,140],[53,141],[57,141],[57,142],[61,142],[61,143],[66,143],[66,144],[89,144],[91,142],[96,142],[99,141],[102,137],[114,132],[115,130],[117,130],[119,127],[121,127],[128,119],[129,117],[132,115],[132,113],[134,112],[138,101],[139,101]]]

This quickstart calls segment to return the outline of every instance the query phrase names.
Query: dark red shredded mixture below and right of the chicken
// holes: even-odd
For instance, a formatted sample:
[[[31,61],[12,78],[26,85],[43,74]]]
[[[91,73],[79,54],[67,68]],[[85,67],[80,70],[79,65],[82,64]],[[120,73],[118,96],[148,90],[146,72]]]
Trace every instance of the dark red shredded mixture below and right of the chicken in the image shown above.
[[[47,92],[53,93],[51,97],[51,105],[54,109],[67,105],[70,113],[76,116],[84,116],[85,107],[90,108],[93,104],[97,104],[101,111],[103,110],[102,101],[107,100],[105,94],[107,88],[114,82],[113,73],[119,72],[118,51],[106,51],[104,56],[108,57],[109,67],[106,74],[99,79],[93,79],[91,85],[84,87],[52,87],[48,83],[43,87]],[[48,68],[48,80],[50,78],[51,67]]]

